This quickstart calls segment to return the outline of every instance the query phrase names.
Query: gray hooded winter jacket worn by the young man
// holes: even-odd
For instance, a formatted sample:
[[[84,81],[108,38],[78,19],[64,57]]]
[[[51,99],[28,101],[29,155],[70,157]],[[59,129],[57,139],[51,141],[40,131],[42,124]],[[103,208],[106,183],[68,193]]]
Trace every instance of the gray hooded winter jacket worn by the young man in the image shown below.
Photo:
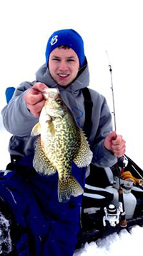
[[[71,109],[79,127],[84,126],[84,97],[82,88],[89,86],[88,65],[73,83],[64,88],[59,86],[51,78],[49,69],[42,65],[36,72],[36,81],[45,83],[49,87],[58,87],[61,97]],[[36,137],[31,137],[31,129],[39,121],[26,108],[24,93],[34,83],[24,82],[16,88],[14,96],[9,104],[1,111],[6,130],[13,134],[9,142],[11,155],[31,155],[34,153]],[[101,94],[89,89],[92,101],[92,132],[89,137],[89,145],[93,151],[92,162],[100,167],[109,167],[117,162],[112,152],[104,147],[104,138],[112,131],[112,116],[107,106],[107,101]]]

